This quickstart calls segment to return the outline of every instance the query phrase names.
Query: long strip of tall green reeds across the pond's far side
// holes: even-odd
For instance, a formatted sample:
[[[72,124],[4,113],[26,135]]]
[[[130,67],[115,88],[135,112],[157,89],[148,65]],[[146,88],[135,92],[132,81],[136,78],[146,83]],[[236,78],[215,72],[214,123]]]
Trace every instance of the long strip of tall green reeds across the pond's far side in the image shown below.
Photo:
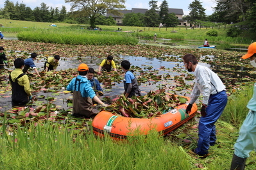
[[[19,40],[30,42],[83,44],[83,45],[134,45],[138,43],[131,33],[101,31],[24,31]]]

